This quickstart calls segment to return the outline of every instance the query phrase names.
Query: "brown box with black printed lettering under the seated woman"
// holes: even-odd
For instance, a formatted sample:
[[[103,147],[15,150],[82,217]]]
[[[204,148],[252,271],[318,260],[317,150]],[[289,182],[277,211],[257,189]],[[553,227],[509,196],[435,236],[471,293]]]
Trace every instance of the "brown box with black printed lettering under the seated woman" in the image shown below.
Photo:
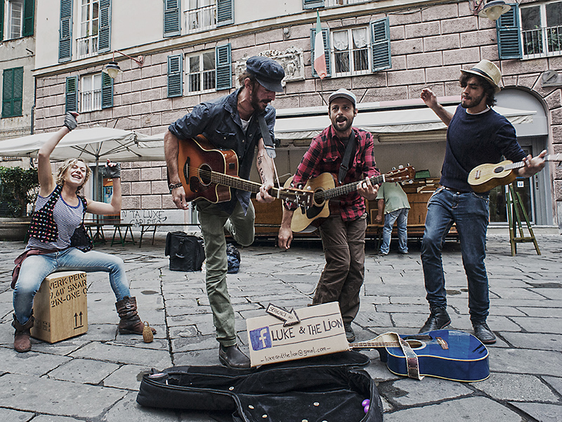
[[[33,300],[31,335],[55,343],[88,331],[88,285],[84,271],[54,272]]]

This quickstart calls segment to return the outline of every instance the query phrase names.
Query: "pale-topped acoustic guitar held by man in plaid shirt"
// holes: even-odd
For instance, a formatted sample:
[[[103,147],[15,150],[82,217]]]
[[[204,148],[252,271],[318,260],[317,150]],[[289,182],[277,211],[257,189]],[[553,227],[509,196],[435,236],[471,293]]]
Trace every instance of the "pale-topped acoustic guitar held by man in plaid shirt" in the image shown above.
[[[402,167],[380,176],[370,177],[372,184],[381,184],[384,181],[405,181],[414,179],[414,167]],[[285,182],[285,187],[291,186],[293,177]],[[312,205],[308,207],[300,207],[295,210],[291,221],[291,230],[294,232],[305,231],[311,224],[316,224],[315,220],[329,216],[329,200],[344,196],[348,193],[357,191],[359,181],[353,183],[338,185],[337,177],[332,173],[322,173],[317,177],[306,182],[303,191],[313,193]]]

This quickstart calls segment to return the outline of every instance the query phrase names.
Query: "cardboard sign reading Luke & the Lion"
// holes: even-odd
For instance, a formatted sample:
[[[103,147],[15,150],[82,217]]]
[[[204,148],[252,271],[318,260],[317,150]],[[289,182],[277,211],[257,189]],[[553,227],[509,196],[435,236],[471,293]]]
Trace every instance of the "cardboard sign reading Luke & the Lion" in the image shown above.
[[[246,320],[251,366],[273,364],[348,350],[337,302],[296,309],[300,322],[266,315]]]

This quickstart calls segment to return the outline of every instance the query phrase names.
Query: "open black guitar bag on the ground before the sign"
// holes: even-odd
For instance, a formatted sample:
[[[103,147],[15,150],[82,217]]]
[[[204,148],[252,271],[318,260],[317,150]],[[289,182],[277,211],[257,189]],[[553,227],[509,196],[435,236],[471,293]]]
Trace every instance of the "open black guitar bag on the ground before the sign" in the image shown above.
[[[209,411],[221,422],[381,422],[377,386],[355,351],[236,370],[174,366],[141,381],[141,406]],[[370,399],[367,414],[362,406]]]

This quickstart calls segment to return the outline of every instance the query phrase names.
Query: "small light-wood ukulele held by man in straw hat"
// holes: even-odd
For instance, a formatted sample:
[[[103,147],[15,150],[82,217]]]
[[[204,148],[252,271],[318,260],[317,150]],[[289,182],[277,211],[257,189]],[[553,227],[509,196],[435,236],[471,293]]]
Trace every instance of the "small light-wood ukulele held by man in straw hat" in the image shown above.
[[[546,155],[544,161],[560,161],[562,154]],[[469,185],[478,193],[488,192],[502,184],[510,184],[517,177],[514,170],[525,166],[525,162],[504,160],[497,164],[481,164],[469,173]]]

